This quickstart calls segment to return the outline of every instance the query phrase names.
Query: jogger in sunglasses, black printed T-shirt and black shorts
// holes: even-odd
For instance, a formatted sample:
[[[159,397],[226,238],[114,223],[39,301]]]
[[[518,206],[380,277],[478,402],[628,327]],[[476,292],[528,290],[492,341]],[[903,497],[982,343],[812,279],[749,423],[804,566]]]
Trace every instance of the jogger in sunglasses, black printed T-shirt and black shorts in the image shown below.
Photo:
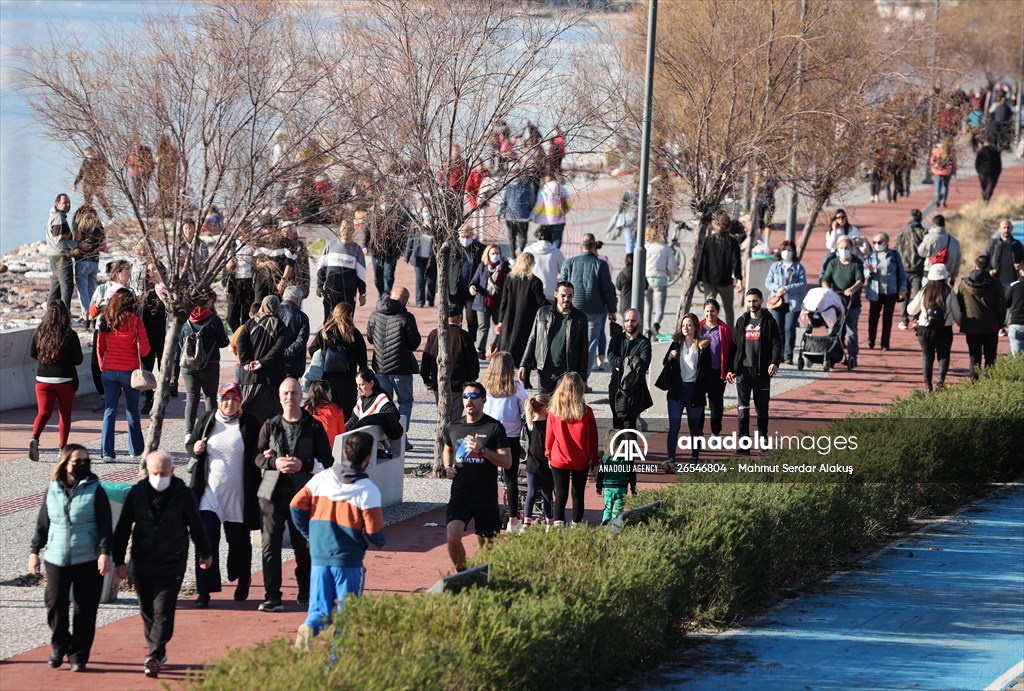
[[[479,382],[468,382],[462,390],[465,420],[444,428],[444,472],[452,480],[446,520],[449,557],[456,570],[466,568],[462,538],[470,521],[480,545],[501,529],[498,513],[498,469],[512,467],[512,454],[505,427],[483,415],[487,392]]]

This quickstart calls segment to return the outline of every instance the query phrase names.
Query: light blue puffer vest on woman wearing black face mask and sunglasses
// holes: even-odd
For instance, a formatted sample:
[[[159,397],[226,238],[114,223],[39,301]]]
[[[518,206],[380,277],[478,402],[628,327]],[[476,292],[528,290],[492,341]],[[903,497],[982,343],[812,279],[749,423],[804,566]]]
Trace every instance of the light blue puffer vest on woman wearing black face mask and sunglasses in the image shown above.
[[[99,530],[96,527],[96,487],[90,475],[75,485],[71,499],[59,480],[46,491],[46,512],[50,531],[46,537],[46,561],[54,566],[73,566],[99,558]]]

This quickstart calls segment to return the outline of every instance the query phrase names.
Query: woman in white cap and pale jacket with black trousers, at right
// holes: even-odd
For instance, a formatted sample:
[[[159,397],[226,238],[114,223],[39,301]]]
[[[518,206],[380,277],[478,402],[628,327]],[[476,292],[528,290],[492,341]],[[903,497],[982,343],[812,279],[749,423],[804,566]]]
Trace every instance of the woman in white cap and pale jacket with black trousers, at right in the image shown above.
[[[932,392],[932,372],[939,360],[939,388],[946,383],[949,372],[949,351],[953,345],[953,322],[961,322],[959,302],[949,288],[949,271],[945,264],[932,264],[928,269],[928,285],[907,306],[909,314],[918,315],[918,341],[924,358],[922,371],[925,391]]]

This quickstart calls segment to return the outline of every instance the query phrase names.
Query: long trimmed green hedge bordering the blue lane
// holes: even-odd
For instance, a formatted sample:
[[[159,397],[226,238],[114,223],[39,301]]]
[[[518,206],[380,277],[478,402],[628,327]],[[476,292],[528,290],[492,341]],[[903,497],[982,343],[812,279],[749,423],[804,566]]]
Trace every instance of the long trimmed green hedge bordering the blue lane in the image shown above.
[[[1024,357],[979,382],[915,393],[818,434],[856,434],[852,476],[683,478],[634,504],[663,510],[605,530],[500,538],[476,561],[492,587],[350,600],[311,653],[276,639],[208,667],[210,689],[609,686],[695,625],[726,624],[919,513],[1024,472]],[[1016,435],[1016,436],[1015,436]],[[782,450],[771,463],[819,463]],[[829,458],[829,462],[833,459]],[[759,463],[766,463],[759,461]],[[328,663],[330,656],[337,663]]]

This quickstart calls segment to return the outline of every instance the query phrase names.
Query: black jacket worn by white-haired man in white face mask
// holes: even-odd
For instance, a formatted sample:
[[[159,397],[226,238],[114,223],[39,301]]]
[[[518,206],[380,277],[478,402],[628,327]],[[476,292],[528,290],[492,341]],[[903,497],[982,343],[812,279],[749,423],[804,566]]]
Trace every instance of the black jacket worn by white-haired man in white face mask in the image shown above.
[[[177,477],[158,492],[142,479],[128,490],[114,530],[114,563],[125,563],[128,538],[135,573],[180,576],[188,564],[188,536],[201,557],[210,556],[210,541],[199,516],[196,495]]]

